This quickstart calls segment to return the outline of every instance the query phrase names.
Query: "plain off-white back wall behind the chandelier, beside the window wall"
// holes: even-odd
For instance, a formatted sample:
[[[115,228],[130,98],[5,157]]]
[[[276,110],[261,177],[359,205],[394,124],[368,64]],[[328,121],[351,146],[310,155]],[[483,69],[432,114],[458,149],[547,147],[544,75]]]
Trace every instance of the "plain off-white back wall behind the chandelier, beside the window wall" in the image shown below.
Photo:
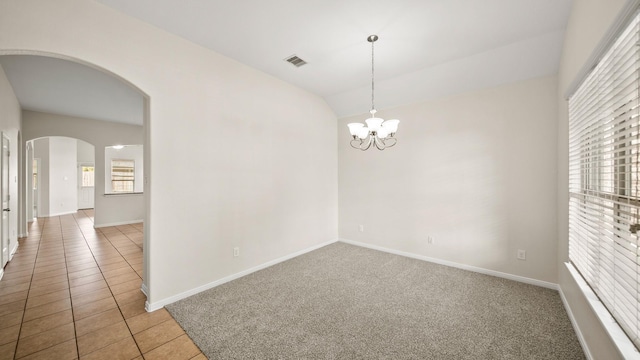
[[[556,283],[555,89],[545,77],[380,111],[400,119],[384,151],[349,146],[346,124],[366,115],[340,119],[340,238]]]

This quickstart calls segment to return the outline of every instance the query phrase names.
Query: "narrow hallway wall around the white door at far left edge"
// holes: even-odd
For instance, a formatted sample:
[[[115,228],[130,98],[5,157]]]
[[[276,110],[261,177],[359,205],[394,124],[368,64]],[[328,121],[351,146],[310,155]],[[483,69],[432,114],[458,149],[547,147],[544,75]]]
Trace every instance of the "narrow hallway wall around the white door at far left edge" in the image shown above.
[[[12,209],[9,214],[9,253],[12,254],[18,247],[18,216],[23,213],[23,208],[18,206],[18,149],[21,148],[18,138],[21,123],[20,104],[13,93],[4,70],[0,67],[0,132],[11,141],[11,156],[9,162],[10,173],[10,201]],[[1,230],[1,229],[0,229]]]

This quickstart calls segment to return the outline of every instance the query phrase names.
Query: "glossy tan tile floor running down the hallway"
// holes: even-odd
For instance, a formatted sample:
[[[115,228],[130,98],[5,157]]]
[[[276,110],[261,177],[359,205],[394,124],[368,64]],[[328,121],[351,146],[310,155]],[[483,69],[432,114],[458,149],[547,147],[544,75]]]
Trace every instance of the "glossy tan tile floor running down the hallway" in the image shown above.
[[[0,360],[206,359],[140,291],[142,224],[39,218],[0,280]]]

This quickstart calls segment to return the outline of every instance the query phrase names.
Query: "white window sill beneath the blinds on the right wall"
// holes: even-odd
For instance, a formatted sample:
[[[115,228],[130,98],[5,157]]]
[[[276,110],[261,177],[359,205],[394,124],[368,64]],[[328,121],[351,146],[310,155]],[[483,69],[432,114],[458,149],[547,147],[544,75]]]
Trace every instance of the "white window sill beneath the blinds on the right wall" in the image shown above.
[[[573,277],[573,280],[578,284],[578,287],[589,303],[589,306],[593,309],[596,317],[598,317],[598,320],[602,323],[605,331],[609,334],[609,337],[618,349],[618,352],[620,352],[625,359],[640,359],[640,353],[636,349],[635,345],[633,345],[627,334],[611,316],[609,310],[604,307],[600,299],[598,299],[598,296],[596,296],[593,290],[591,290],[591,287],[587,285],[587,282],[582,278],[582,275],[580,275],[578,270],[576,270],[571,263],[566,262],[565,265]]]

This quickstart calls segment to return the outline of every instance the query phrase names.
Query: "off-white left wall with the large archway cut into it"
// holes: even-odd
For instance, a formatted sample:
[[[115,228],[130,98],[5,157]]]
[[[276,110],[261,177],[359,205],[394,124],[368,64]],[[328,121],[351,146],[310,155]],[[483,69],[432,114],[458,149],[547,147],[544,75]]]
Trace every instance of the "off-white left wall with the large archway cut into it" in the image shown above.
[[[21,50],[148,95],[151,307],[337,238],[336,118],[320,97],[93,1],[0,2],[0,54]]]

